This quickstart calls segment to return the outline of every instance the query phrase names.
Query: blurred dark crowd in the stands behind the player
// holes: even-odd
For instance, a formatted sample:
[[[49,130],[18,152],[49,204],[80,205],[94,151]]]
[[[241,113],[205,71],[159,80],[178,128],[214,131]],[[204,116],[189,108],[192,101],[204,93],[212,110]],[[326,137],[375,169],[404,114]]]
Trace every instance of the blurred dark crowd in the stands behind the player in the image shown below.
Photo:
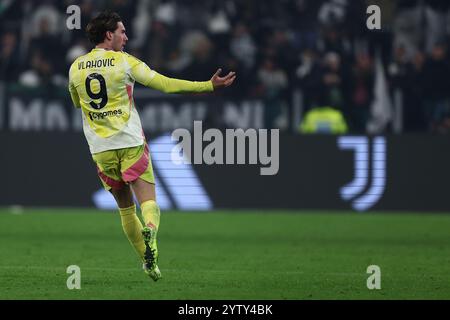
[[[71,4],[81,8],[81,30],[66,27]],[[381,7],[380,31],[366,27],[370,4]],[[1,0],[0,81],[66,86],[68,67],[92,47],[84,27],[110,9],[127,28],[126,51],[165,75],[206,80],[219,66],[235,70],[238,82],[224,95],[261,98],[278,110],[301,90],[304,112],[332,106],[352,131],[365,132],[379,63],[386,92],[403,93],[402,131],[445,133],[449,7],[448,0]]]

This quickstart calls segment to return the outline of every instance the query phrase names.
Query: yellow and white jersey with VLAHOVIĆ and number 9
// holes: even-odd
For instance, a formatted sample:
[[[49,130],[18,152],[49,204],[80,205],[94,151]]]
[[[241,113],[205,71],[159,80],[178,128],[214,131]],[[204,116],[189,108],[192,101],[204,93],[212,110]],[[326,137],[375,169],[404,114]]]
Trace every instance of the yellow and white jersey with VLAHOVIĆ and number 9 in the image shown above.
[[[211,92],[211,81],[165,77],[122,51],[94,48],[69,70],[72,102],[82,110],[83,131],[92,154],[144,143],[133,100],[134,83],[165,93]]]

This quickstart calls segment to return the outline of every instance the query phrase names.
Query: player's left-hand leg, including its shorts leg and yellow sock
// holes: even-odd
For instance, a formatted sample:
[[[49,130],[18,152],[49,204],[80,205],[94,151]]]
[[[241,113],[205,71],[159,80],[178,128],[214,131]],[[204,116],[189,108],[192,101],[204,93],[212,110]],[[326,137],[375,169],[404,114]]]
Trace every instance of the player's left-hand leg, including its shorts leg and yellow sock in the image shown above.
[[[122,181],[118,151],[105,151],[94,154],[92,157],[97,164],[98,175],[103,187],[112,193],[117,202],[125,235],[138,256],[144,260],[145,243],[142,236],[142,223],[136,215],[136,205],[130,186]]]

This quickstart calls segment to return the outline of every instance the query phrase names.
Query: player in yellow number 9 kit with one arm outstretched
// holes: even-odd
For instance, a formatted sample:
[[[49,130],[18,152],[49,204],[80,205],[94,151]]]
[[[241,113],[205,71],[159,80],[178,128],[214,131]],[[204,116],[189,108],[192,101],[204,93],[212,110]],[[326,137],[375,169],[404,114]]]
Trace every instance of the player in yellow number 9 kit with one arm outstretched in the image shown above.
[[[221,69],[209,81],[165,77],[144,62],[123,52],[128,41],[120,16],[102,12],[86,27],[95,48],[77,58],[69,71],[73,104],[81,108],[83,131],[104,188],[119,207],[123,230],[154,280],[161,278],[156,242],[160,210],[150,153],[133,101],[133,86],[166,93],[212,92],[231,85],[234,72],[221,77]],[[136,215],[133,193],[139,201],[145,225]]]

